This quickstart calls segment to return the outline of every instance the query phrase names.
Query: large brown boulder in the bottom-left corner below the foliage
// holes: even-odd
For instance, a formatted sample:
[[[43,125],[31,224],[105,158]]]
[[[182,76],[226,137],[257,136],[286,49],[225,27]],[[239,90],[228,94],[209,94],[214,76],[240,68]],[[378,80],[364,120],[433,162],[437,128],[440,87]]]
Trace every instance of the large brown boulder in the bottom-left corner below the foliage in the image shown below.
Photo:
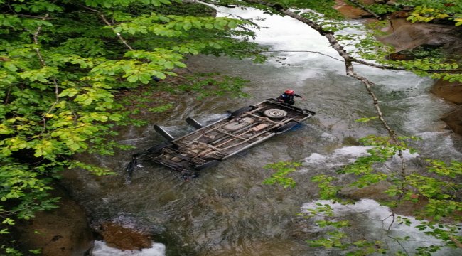
[[[41,249],[43,256],[90,255],[93,235],[85,212],[63,188],[55,186],[59,208],[36,213],[35,218],[18,223],[24,251]]]

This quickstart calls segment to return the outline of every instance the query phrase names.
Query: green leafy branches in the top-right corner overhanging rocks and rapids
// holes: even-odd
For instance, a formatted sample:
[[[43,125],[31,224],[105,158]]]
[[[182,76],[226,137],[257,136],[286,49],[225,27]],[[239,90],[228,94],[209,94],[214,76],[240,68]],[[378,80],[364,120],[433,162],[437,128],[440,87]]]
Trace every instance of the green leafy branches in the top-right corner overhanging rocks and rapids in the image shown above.
[[[368,9],[375,11],[376,14],[390,14],[394,11],[406,9],[409,12],[409,21],[412,22],[431,22],[436,20],[453,21],[455,26],[461,25],[462,9],[458,1],[433,1],[433,0],[416,0],[416,1],[397,1],[397,4],[370,4],[366,5]],[[410,11],[409,11],[410,10]],[[311,12],[303,13],[303,16],[310,18],[320,24],[326,31],[335,33],[335,38],[345,46],[352,45],[349,48],[350,56],[358,56],[364,60],[374,60],[382,65],[410,70],[417,75],[426,76],[434,79],[448,80],[449,82],[461,82],[462,76],[459,67],[461,60],[454,59],[454,56],[444,53],[439,48],[429,49],[417,47],[408,50],[409,53],[402,52],[399,54],[409,55],[409,60],[393,60],[390,55],[394,54],[394,48],[377,41],[377,36],[383,36],[384,33],[380,28],[389,26],[388,21],[377,21],[369,23],[364,27],[358,25],[349,25],[348,23],[333,22],[326,20],[325,17]],[[349,28],[348,32],[343,32]],[[358,33],[351,33],[351,31]],[[357,57],[357,58],[358,58]]]

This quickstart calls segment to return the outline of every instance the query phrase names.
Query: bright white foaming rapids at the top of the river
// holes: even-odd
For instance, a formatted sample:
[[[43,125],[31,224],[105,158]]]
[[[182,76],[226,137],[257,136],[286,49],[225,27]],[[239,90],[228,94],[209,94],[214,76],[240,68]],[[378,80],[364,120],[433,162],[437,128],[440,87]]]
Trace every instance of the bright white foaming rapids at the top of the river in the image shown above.
[[[284,58],[282,63],[290,63],[291,72],[294,72],[294,75],[304,75],[306,78],[311,78],[323,73],[316,70],[325,69],[330,70],[331,73],[344,73],[343,62],[330,61],[328,65],[325,65],[326,61],[320,61],[332,60],[328,56],[338,58],[338,53],[329,46],[328,40],[324,36],[301,21],[289,16],[264,14],[263,11],[252,8],[242,10],[218,7],[217,11],[217,16],[252,18],[252,22],[260,26],[252,41],[264,46],[271,46],[271,50],[274,51],[281,50],[281,52],[275,52],[273,55]],[[276,66],[281,65],[279,61],[271,59],[267,63]]]

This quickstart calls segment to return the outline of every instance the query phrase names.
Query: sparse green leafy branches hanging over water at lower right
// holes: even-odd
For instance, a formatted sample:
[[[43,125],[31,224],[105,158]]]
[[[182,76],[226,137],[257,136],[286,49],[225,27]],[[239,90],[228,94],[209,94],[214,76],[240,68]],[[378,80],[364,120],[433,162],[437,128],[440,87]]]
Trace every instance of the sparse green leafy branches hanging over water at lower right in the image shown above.
[[[337,175],[327,176],[320,174],[313,176],[311,181],[318,183],[319,197],[330,200],[333,203],[351,203],[352,201],[343,196],[345,188],[365,188],[379,182],[388,185],[387,190],[383,191],[389,196],[388,201],[382,204],[396,207],[405,202],[417,203],[426,202],[424,207],[418,210],[416,217],[420,223],[416,228],[423,231],[426,235],[434,236],[441,240],[443,245],[457,247],[462,242],[460,236],[461,226],[457,223],[461,221],[462,203],[458,200],[458,193],[462,190],[461,183],[457,181],[462,177],[462,163],[451,161],[447,164],[440,160],[427,160],[427,171],[422,173],[407,173],[403,169],[390,166],[390,159],[399,158],[399,153],[404,149],[409,150],[408,140],[418,139],[416,137],[400,137],[399,143],[391,142],[387,137],[370,136],[362,139],[365,146],[370,146],[367,156],[358,157],[353,164],[344,166],[338,170]],[[416,151],[410,149],[409,153]],[[381,164],[380,164],[381,163]],[[294,165],[292,165],[294,164]],[[279,183],[284,187],[293,187],[292,178],[286,176],[295,171],[293,167],[300,166],[299,163],[276,163],[269,164],[276,170],[271,178],[264,183]],[[289,166],[286,167],[286,166]],[[384,169],[383,167],[386,166]],[[355,178],[340,178],[339,176],[354,176]],[[349,183],[345,183],[350,181]],[[348,255],[369,255],[377,252],[387,252],[386,247],[378,241],[358,240],[350,241],[344,228],[349,223],[347,220],[335,220],[333,209],[328,204],[316,203],[313,208],[308,208],[307,213],[300,215],[306,218],[315,218],[318,228],[333,228],[328,231],[326,238],[309,240],[308,244],[313,247],[337,248],[347,251]],[[321,218],[321,220],[318,220]],[[397,223],[403,225],[413,225],[408,218],[397,218]],[[408,240],[409,238],[391,237],[393,240]],[[421,246],[417,248],[418,255],[428,255],[431,252],[441,250],[441,245]]]

